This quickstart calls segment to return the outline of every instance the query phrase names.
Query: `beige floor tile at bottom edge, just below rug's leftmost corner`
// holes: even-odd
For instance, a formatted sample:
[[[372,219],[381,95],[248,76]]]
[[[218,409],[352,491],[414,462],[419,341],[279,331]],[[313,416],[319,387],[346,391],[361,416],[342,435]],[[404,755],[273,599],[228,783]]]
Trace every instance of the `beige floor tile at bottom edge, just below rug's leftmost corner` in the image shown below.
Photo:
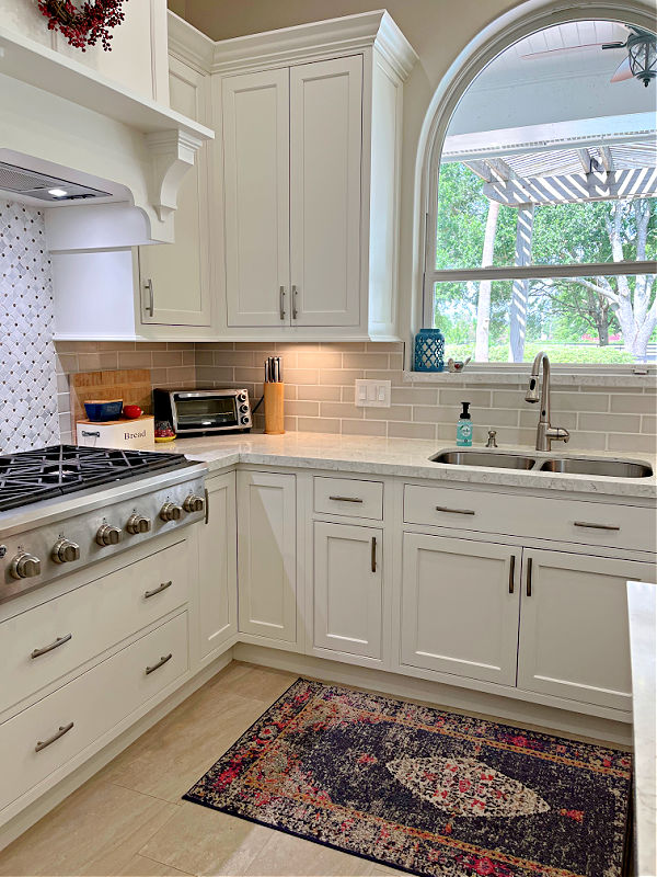
[[[269,838],[279,833],[184,801],[139,853],[192,874],[243,875]]]

